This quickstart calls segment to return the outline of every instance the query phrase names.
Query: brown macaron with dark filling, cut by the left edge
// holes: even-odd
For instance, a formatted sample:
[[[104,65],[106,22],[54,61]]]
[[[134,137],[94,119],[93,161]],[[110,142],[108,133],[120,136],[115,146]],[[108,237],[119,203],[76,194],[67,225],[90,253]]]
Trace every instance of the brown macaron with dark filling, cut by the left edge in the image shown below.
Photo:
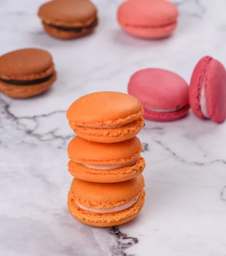
[[[0,91],[12,98],[28,98],[46,91],[56,80],[49,52],[19,49],[0,57]]]

